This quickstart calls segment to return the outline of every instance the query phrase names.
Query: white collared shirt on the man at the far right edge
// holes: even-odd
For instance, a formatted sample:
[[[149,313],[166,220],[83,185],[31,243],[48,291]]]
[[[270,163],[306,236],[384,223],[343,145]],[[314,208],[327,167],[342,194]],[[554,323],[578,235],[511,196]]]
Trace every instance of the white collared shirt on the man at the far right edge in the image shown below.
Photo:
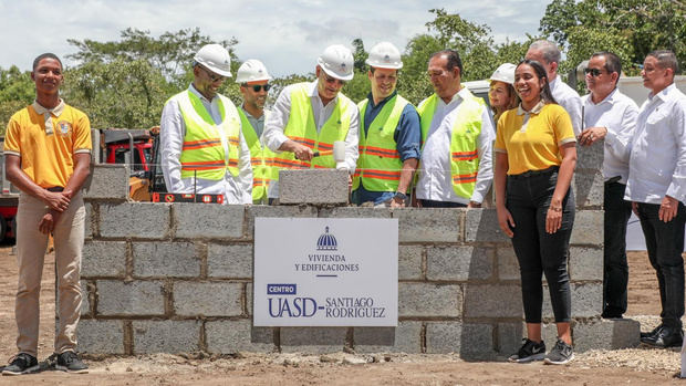
[[[673,83],[648,95],[636,119],[624,199],[686,204],[686,95]]]

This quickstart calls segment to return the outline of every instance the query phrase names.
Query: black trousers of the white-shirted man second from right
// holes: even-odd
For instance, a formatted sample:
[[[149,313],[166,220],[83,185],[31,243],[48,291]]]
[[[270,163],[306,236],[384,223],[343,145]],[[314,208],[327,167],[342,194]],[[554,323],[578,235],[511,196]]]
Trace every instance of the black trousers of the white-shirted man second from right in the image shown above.
[[[631,202],[624,200],[626,185],[606,182],[603,199],[605,209],[603,251],[603,316],[619,317],[626,312],[626,223]]]

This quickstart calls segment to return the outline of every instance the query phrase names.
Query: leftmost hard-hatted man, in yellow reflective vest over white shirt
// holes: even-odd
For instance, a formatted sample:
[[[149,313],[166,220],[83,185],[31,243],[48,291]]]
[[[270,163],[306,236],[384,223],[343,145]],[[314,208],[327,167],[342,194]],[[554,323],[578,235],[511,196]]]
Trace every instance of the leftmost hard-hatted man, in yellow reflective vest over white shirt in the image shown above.
[[[159,139],[169,192],[224,195],[225,204],[252,202],[250,150],[236,106],[217,91],[231,76],[229,52],[202,46],[194,58],[194,81],[167,101]]]

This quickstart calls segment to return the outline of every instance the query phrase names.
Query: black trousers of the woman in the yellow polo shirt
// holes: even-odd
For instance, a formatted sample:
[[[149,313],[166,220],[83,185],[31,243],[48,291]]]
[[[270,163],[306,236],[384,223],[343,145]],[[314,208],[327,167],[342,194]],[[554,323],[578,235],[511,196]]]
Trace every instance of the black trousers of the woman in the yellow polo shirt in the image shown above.
[[[512,247],[519,261],[521,293],[527,323],[541,323],[542,274],[545,274],[555,322],[570,322],[572,300],[567,259],[574,225],[574,195],[568,190],[562,201],[562,226],[545,232],[545,217],[558,182],[558,169],[528,176],[508,176],[506,207],[512,215]]]

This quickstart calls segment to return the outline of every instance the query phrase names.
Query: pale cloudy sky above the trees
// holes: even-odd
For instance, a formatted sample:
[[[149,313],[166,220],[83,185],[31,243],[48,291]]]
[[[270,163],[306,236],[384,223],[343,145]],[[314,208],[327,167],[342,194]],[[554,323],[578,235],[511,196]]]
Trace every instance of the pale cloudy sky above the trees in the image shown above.
[[[116,41],[134,28],[158,36],[199,28],[212,40],[236,38],[241,61],[259,59],[274,76],[314,71],[330,44],[365,49],[389,41],[403,52],[408,40],[426,32],[430,8],[487,24],[496,42],[537,34],[548,0],[0,0],[0,67],[30,70],[35,56],[63,58],[76,50],[67,39]]]

